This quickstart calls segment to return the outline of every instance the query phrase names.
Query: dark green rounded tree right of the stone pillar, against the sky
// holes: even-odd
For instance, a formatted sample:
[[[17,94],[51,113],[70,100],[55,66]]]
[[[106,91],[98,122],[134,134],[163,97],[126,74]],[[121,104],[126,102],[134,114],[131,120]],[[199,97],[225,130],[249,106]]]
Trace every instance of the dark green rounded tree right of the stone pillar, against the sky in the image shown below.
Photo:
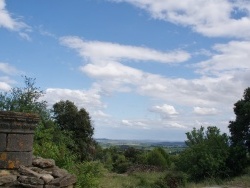
[[[53,117],[61,130],[72,133],[72,139],[76,144],[75,152],[80,160],[91,159],[95,150],[95,141],[92,138],[94,127],[89,113],[78,108],[69,100],[60,101],[53,105]]]

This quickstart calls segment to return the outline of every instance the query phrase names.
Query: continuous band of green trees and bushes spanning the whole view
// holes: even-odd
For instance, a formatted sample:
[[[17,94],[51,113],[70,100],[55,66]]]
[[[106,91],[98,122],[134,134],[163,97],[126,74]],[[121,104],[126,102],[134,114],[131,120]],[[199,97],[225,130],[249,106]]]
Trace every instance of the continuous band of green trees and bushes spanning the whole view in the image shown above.
[[[243,174],[249,166],[250,88],[235,103],[230,136],[215,126],[194,128],[186,133],[187,148],[180,154],[169,154],[161,147],[150,151],[103,149],[93,139],[93,123],[84,108],[66,100],[48,109],[47,102],[41,100],[43,95],[35,79],[24,77],[24,87],[0,93],[0,110],[39,114],[34,155],[53,158],[58,166],[76,174],[78,187],[98,187],[99,178],[108,172],[159,170],[166,175],[147,187],[174,188],[187,181],[228,179]]]

